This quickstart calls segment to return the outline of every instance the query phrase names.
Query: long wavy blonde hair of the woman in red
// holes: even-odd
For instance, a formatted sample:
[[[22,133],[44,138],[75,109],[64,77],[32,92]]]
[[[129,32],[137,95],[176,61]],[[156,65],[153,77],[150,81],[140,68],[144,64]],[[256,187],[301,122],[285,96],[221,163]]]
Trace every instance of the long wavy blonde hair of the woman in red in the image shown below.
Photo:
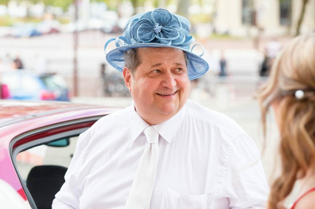
[[[295,91],[303,90],[302,99]],[[295,37],[277,56],[261,88],[263,132],[272,102],[279,102],[281,174],[271,186],[268,208],[276,209],[291,192],[297,174],[306,175],[315,158],[315,34]]]

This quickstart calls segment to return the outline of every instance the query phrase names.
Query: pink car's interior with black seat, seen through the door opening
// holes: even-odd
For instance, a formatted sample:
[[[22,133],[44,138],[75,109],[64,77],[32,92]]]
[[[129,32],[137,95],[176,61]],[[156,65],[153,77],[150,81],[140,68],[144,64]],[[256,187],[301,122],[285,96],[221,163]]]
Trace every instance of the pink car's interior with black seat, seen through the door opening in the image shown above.
[[[51,208],[55,194],[65,182],[77,137],[38,144],[17,154],[16,167],[27,188],[24,187],[27,198],[38,209]]]

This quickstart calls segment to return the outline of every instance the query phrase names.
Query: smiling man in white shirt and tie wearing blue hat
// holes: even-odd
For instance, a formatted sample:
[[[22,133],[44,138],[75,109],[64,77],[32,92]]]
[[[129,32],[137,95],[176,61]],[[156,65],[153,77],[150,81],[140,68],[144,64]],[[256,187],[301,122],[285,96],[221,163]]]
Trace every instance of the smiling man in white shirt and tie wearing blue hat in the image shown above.
[[[106,59],[134,104],[80,135],[54,209],[264,207],[255,143],[232,119],[188,100],[189,79],[209,68],[189,51],[189,25],[164,9],[129,20]]]

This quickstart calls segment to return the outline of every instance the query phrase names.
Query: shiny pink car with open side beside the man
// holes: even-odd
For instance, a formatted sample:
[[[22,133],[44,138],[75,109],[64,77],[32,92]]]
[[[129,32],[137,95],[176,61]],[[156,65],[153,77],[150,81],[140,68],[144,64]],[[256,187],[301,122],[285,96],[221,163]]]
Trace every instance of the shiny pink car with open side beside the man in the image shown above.
[[[0,208],[51,208],[78,135],[117,110],[0,100]]]

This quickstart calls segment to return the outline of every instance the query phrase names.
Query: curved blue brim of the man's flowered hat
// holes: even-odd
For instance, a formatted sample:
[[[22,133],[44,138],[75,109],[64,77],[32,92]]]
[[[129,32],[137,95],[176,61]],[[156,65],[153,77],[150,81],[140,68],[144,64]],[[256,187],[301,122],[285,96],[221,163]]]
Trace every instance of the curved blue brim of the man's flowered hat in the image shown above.
[[[123,67],[125,63],[123,55],[125,51],[128,51],[129,49],[143,48],[143,47],[170,47],[170,48],[180,49],[180,50],[185,51],[187,55],[187,70],[188,70],[189,80],[198,78],[209,70],[209,64],[197,54],[191,51],[188,51],[186,49],[183,49],[181,47],[159,44],[159,43],[141,43],[141,44],[130,44],[130,45],[119,46],[109,51],[106,54],[106,60],[112,67],[114,67],[120,72],[123,72]]]

